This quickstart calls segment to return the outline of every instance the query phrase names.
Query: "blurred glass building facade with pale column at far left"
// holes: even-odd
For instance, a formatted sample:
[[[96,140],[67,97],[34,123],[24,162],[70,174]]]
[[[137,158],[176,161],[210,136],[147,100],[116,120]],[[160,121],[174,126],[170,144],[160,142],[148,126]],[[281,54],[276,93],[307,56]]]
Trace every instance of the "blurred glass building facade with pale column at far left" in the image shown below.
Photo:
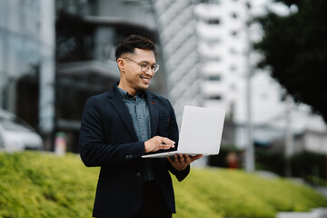
[[[50,144],[54,131],[54,1],[0,1],[0,107]]]

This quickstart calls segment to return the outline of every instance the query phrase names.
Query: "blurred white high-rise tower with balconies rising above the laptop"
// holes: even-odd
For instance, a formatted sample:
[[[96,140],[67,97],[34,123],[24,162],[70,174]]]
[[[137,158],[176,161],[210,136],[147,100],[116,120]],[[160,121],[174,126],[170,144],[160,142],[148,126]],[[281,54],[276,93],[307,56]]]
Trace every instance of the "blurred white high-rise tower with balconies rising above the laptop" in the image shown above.
[[[195,8],[203,106],[223,108],[226,120],[244,124],[248,5],[244,0],[208,2]]]

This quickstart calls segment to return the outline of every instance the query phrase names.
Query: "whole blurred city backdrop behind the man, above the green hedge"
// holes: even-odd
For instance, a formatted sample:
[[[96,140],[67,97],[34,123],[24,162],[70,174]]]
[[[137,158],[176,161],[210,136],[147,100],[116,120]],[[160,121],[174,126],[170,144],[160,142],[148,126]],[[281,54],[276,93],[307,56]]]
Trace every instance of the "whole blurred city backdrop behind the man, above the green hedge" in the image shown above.
[[[119,80],[115,45],[136,34],[158,47],[161,68],[150,90],[169,98],[179,124],[184,105],[227,112],[221,154],[197,164],[325,185],[326,106],[317,105],[327,98],[326,68],[304,57],[287,59],[289,50],[299,53],[301,47],[282,45],[308,43],[300,36],[316,25],[315,35],[325,39],[326,4],[306,3],[314,10],[322,2],[324,23],[313,20],[304,24],[307,29],[290,23],[293,32],[272,31],[277,21],[310,13],[302,10],[305,2],[310,1],[0,0],[0,148],[78,153],[84,103]],[[326,48],[306,36],[312,40],[306,46]],[[275,54],[279,62],[272,60]],[[327,63],[319,50],[311,55]],[[288,67],[290,62],[297,68]],[[287,74],[294,69],[299,75]],[[296,83],[317,92],[302,97]]]

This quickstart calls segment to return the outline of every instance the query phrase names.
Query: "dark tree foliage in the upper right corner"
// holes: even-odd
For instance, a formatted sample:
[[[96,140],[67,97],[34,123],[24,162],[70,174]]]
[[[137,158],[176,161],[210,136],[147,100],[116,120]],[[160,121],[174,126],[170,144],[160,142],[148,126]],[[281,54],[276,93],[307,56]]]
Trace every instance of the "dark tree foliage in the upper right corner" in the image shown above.
[[[263,39],[254,45],[263,54],[258,66],[269,67],[295,102],[311,105],[327,123],[327,1],[275,1],[298,10],[256,18],[263,26]]]

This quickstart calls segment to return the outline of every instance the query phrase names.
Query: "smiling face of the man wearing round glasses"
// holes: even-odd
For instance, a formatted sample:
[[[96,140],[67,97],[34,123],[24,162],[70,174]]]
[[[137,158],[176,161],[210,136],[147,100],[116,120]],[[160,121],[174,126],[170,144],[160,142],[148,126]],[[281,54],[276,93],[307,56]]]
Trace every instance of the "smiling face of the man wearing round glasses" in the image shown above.
[[[151,68],[145,72],[142,71],[141,65],[154,65],[154,53],[151,50],[135,48],[134,54],[125,54],[122,59],[124,71],[121,74],[121,82],[124,85],[124,89],[130,94],[135,94],[140,90],[149,88],[154,73]]]

